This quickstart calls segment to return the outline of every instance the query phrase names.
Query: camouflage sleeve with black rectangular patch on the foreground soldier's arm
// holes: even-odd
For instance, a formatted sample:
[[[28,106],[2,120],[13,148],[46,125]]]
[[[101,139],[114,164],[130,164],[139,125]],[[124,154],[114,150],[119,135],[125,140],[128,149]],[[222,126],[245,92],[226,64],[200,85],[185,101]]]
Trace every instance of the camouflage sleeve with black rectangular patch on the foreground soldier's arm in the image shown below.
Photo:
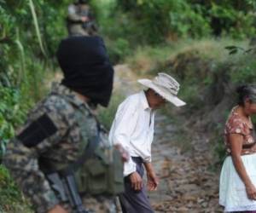
[[[38,110],[41,113],[42,109]],[[26,124],[15,140],[9,142],[3,164],[20,186],[38,213],[52,209],[59,201],[50,189],[44,173],[39,170],[38,158],[67,133],[67,114],[57,108],[43,108],[44,114]]]

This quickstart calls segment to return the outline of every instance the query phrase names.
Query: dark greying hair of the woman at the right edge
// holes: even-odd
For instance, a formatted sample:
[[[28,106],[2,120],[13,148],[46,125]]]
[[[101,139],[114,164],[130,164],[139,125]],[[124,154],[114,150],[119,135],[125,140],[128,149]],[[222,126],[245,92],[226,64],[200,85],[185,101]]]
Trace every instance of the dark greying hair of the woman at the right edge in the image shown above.
[[[238,94],[238,104],[244,105],[244,101],[248,98],[253,103],[256,103],[256,83],[244,84],[237,87],[236,92]]]

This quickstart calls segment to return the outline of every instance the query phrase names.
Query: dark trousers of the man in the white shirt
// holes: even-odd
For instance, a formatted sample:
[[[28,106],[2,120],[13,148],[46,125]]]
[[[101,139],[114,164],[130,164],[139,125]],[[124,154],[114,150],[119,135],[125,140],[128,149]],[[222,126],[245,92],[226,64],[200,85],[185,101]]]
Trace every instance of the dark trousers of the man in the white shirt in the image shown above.
[[[132,157],[132,160],[136,163],[137,173],[143,178],[143,158]],[[125,193],[119,195],[119,201],[123,213],[154,213],[145,192],[145,187],[143,186],[141,191],[135,191],[131,187],[129,176],[125,177]]]

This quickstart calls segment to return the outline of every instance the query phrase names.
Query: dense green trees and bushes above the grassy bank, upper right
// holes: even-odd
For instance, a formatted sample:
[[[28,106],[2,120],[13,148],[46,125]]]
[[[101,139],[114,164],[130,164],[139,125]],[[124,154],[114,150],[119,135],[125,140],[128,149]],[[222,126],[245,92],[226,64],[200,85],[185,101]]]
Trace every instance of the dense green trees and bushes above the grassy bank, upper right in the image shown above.
[[[176,43],[181,38],[255,34],[255,1],[108,0],[92,1],[113,60],[137,46]]]

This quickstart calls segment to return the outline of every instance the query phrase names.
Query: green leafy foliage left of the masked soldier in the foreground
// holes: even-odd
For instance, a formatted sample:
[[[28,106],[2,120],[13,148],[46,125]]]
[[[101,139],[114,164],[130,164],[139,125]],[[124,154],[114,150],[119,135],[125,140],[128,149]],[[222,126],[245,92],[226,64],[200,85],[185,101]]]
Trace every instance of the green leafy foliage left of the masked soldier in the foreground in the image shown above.
[[[0,159],[14,129],[46,89],[57,44],[66,36],[68,1],[0,1]],[[24,31],[26,29],[26,31]]]

